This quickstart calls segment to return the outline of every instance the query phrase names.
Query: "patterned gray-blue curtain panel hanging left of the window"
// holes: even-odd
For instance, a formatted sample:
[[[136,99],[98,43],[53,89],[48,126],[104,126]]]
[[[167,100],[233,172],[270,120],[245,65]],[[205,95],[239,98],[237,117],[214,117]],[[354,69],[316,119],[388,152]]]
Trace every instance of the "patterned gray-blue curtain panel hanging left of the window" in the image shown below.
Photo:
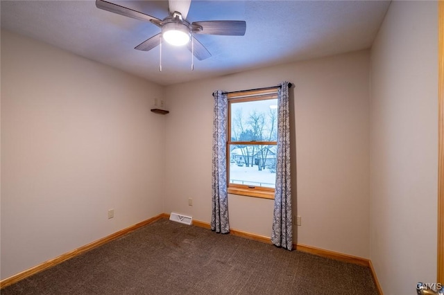
[[[228,98],[223,91],[214,91],[213,172],[211,229],[229,233],[227,193],[227,111]]]

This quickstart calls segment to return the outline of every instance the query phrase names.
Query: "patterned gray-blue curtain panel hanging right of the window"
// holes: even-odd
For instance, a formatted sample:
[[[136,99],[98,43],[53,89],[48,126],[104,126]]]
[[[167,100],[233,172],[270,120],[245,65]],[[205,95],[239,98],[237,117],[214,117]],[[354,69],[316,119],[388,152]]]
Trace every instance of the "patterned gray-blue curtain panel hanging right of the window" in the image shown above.
[[[271,242],[278,247],[283,247],[290,251],[293,249],[293,226],[291,223],[289,82],[282,82],[280,84],[278,96],[278,154]]]

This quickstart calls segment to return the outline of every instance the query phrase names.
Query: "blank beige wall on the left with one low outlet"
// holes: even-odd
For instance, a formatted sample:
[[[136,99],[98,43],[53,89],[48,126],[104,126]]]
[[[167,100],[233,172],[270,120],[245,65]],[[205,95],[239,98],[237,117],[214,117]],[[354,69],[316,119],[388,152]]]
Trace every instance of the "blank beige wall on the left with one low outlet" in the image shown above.
[[[163,212],[161,96],[1,31],[1,278]]]

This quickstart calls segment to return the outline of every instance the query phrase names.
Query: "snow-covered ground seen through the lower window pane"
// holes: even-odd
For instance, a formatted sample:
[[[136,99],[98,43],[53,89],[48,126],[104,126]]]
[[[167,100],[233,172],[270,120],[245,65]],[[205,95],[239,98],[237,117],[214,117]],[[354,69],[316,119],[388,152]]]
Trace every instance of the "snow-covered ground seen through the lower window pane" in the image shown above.
[[[237,166],[237,163],[230,163],[231,184],[247,184],[274,188],[275,182],[276,173],[271,173],[267,168],[259,171],[256,165],[253,167],[245,167]]]

